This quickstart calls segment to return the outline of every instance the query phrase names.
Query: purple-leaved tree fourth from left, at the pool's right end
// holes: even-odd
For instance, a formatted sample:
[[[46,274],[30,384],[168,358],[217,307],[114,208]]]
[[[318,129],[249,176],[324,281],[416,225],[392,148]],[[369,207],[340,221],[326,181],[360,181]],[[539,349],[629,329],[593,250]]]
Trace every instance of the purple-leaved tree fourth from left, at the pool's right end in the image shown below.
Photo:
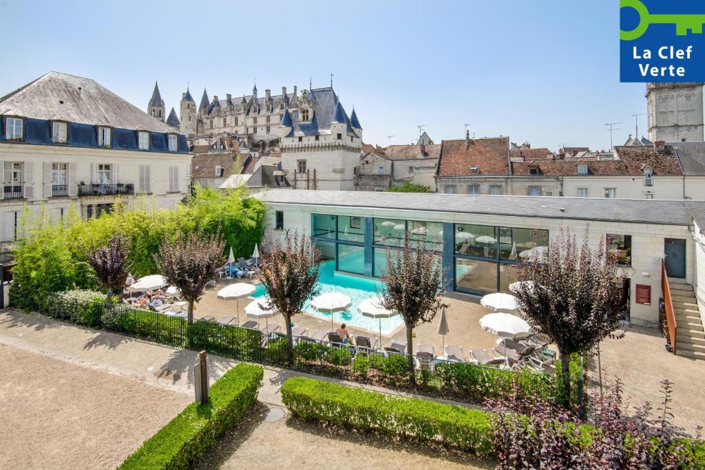
[[[382,278],[381,306],[398,311],[406,326],[409,380],[416,382],[412,357],[414,328],[434,319],[448,304],[441,257],[430,252],[424,242],[412,245],[407,233],[401,249],[387,248],[387,273]]]

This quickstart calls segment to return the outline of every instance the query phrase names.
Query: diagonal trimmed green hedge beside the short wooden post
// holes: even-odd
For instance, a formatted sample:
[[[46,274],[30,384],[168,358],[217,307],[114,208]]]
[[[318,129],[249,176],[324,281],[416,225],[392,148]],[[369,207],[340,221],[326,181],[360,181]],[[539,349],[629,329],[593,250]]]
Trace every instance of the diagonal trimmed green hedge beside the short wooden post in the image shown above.
[[[247,408],[257,399],[263,374],[260,366],[233,367],[213,384],[208,403],[188,405],[118,468],[187,468],[223,431],[243,419]]]

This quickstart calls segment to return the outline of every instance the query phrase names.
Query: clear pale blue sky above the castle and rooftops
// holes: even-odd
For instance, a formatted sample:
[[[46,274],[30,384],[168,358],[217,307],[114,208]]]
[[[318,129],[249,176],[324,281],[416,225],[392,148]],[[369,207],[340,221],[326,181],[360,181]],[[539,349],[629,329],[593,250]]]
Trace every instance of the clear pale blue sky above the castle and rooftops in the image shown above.
[[[6,1],[0,94],[49,70],[93,78],[145,109],[333,86],[365,142],[509,135],[557,149],[621,144],[646,111],[619,82],[616,1]],[[17,42],[8,38],[16,38]],[[10,47],[14,44],[13,47]],[[646,116],[639,116],[646,135]]]

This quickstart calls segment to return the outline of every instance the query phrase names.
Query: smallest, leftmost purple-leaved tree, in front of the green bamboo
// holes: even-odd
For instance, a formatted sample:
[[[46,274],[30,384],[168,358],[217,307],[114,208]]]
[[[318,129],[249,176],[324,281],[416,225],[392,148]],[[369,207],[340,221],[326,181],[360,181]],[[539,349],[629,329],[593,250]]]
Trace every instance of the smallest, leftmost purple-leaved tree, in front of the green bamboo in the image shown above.
[[[123,237],[114,235],[108,245],[87,253],[95,277],[107,291],[109,304],[112,302],[113,293],[123,287],[125,279],[128,278],[128,245]]]

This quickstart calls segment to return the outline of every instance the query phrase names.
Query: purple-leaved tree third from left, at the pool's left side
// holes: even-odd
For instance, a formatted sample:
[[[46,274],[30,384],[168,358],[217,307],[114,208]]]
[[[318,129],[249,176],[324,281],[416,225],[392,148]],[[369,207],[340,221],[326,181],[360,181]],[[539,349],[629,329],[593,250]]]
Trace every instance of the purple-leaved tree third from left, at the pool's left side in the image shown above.
[[[284,244],[274,240],[262,253],[262,285],[274,309],[286,321],[289,362],[293,360],[291,319],[319,292],[321,252],[309,237],[288,235]]]

